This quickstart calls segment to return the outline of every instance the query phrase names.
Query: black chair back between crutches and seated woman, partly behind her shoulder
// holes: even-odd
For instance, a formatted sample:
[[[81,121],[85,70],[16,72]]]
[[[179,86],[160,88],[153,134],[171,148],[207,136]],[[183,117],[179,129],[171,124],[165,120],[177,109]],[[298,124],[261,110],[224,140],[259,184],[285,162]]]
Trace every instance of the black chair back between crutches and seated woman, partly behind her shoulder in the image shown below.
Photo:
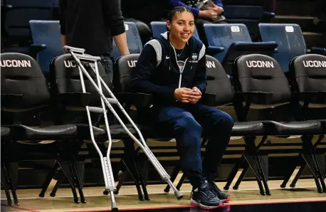
[[[139,57],[140,54],[130,54],[117,59],[113,73],[115,92],[130,92],[132,70],[136,67]]]

